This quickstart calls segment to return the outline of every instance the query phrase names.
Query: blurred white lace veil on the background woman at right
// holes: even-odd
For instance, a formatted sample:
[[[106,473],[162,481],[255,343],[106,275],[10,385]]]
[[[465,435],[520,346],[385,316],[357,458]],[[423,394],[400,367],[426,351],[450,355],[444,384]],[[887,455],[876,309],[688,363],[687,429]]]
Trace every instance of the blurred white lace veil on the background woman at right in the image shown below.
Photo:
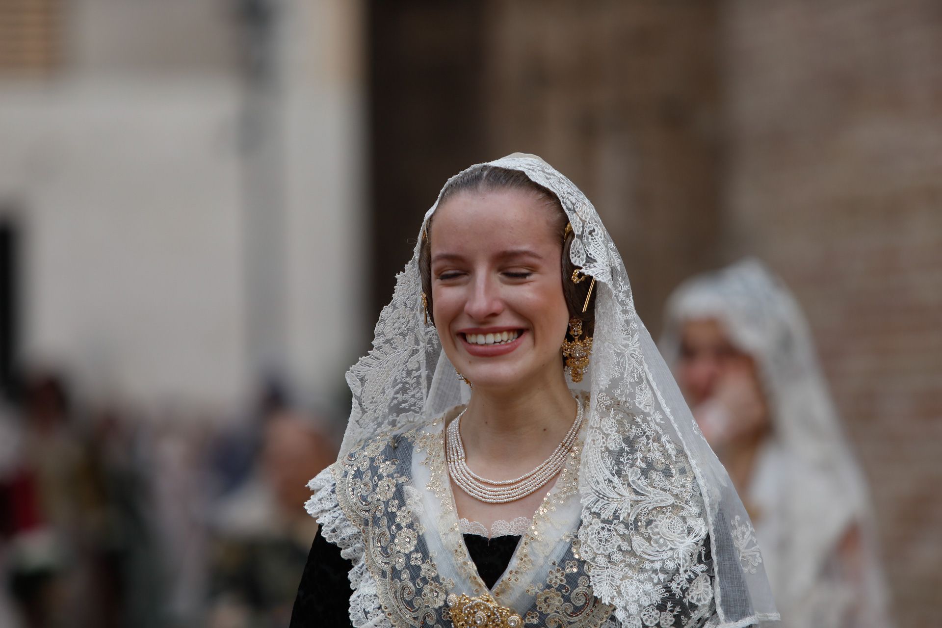
[[[825,561],[833,556],[840,535],[855,525],[862,550],[854,577],[862,588],[851,603],[860,618],[853,625],[891,625],[885,616],[885,582],[866,484],[840,428],[798,302],[755,259],[691,278],[674,291],[666,306],[660,348],[668,362],[679,360],[684,322],[703,318],[723,324],[733,345],[755,359],[769,398],[776,442],[804,470],[799,474],[804,480],[790,478],[796,485],[788,491],[792,503],[778,505],[783,522],[777,527],[788,535],[780,553],[788,556],[778,556],[782,565],[768,566],[776,576],[776,594],[823,588]],[[790,602],[807,604],[800,600]]]

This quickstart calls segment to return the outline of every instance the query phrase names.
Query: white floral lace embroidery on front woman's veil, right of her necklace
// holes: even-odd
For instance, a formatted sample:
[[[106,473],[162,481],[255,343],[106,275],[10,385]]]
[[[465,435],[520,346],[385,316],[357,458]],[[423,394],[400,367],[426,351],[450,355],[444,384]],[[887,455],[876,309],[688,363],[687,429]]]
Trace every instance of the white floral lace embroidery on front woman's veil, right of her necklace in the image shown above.
[[[707,524],[690,467],[658,424],[638,421],[613,403],[603,407],[602,435],[586,448],[589,462],[625,480],[614,491],[583,497],[584,507],[599,515],[579,530],[582,556],[596,576],[593,588],[599,592],[599,581],[603,594],[624,609],[619,619],[626,626],[641,625],[639,619],[648,626],[702,619],[712,585],[704,559]],[[617,455],[624,449],[631,454]],[[627,569],[621,567],[625,556],[636,557]]]

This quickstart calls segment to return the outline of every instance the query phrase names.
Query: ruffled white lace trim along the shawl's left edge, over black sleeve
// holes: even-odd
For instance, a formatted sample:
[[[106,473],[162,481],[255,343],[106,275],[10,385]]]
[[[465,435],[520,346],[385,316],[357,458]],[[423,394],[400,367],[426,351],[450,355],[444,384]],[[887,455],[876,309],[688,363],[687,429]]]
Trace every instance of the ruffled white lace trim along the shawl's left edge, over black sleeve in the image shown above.
[[[392,623],[382,613],[380,598],[376,592],[376,581],[366,569],[364,560],[363,533],[350,522],[337,502],[336,480],[332,468],[328,467],[307,483],[314,492],[304,504],[307,513],[320,524],[320,534],[329,543],[340,548],[340,556],[353,563],[347,574],[350,588],[349,616],[355,628],[392,628]]]

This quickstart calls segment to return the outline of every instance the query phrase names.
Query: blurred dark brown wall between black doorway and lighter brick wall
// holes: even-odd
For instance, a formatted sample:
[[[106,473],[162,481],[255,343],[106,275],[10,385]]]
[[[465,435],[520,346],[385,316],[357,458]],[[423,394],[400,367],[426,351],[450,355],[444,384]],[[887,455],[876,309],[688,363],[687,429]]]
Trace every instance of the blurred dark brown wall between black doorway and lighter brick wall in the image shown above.
[[[489,3],[490,154],[538,153],[593,201],[656,331],[677,282],[715,265],[715,2]]]

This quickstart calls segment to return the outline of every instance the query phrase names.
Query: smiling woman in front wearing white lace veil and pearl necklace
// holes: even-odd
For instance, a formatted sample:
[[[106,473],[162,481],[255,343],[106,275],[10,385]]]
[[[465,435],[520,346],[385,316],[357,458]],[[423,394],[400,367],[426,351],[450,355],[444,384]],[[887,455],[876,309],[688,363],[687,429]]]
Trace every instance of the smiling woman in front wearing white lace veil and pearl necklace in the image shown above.
[[[450,179],[376,330],[309,485],[293,626],[776,618],[748,515],[557,170],[516,153]]]

